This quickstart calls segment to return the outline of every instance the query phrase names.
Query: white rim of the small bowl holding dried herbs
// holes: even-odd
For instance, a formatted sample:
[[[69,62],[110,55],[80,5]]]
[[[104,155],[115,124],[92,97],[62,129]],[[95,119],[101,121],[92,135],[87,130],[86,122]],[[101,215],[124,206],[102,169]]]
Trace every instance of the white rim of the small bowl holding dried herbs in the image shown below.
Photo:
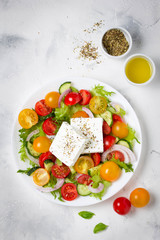
[[[113,55],[109,54],[109,53],[107,52],[107,49],[106,49],[106,48],[104,47],[104,45],[103,45],[103,42],[102,42],[103,37],[104,37],[105,33],[108,32],[108,31],[111,30],[111,29],[118,29],[118,30],[120,30],[120,31],[124,34],[126,40],[128,41],[129,48],[128,48],[128,50],[127,50],[124,54],[122,54],[122,55],[113,56]],[[100,43],[100,45],[101,45],[101,49],[102,49],[103,53],[104,53],[107,57],[114,58],[114,59],[119,59],[119,58],[123,58],[124,56],[126,56],[126,55],[131,51],[131,48],[132,48],[132,37],[131,37],[130,33],[129,33],[125,28],[123,28],[123,27],[112,27],[112,28],[107,29],[107,30],[103,33],[102,38],[101,38],[101,43]]]

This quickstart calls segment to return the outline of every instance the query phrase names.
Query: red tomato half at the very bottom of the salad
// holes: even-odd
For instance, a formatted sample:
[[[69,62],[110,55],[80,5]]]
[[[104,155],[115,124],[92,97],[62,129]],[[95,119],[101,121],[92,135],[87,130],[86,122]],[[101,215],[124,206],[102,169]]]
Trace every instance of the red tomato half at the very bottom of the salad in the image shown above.
[[[62,197],[67,201],[72,201],[77,198],[77,188],[73,183],[66,183],[61,188]]]

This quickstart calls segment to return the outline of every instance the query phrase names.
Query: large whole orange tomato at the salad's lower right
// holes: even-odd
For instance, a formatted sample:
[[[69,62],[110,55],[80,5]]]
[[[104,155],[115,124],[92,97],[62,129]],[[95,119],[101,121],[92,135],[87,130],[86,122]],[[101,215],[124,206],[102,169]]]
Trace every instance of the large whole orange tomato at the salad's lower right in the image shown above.
[[[105,162],[100,168],[100,176],[106,181],[116,181],[121,175],[121,169],[114,162]]]

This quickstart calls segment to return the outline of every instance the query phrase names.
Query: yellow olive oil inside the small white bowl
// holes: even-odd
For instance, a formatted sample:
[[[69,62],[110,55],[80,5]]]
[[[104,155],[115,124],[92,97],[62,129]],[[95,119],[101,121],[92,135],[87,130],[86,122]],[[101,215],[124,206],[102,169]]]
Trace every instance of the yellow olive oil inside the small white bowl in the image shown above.
[[[152,66],[143,57],[134,57],[126,65],[126,76],[133,83],[145,83],[152,76]]]

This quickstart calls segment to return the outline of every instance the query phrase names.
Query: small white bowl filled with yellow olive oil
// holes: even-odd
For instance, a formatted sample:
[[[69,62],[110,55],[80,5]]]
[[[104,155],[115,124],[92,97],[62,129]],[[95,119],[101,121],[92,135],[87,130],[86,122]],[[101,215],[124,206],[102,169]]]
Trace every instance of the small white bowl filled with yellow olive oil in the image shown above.
[[[156,70],[150,57],[144,54],[134,54],[125,61],[124,71],[129,83],[143,86],[153,80]]]

